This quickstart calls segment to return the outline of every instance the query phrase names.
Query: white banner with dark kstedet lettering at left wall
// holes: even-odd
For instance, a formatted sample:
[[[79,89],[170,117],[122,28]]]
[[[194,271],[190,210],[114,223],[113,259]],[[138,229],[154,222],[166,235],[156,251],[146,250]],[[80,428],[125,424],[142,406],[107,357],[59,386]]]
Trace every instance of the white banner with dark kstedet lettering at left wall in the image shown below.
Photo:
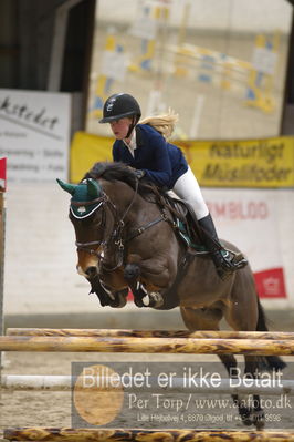
[[[0,89],[0,156],[9,182],[67,178],[69,94]]]

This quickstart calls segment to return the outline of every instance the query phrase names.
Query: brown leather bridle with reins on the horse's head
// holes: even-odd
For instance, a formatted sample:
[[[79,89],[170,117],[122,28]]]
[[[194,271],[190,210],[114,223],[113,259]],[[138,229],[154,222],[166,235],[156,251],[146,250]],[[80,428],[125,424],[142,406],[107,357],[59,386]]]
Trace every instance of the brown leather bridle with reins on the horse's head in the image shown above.
[[[161,213],[161,216],[159,218],[157,218],[141,227],[134,229],[128,237],[124,238],[125,219],[135,203],[137,194],[138,194],[138,179],[136,179],[136,187],[135,187],[133,198],[120,218],[118,216],[116,205],[109,199],[108,195],[106,195],[105,192],[102,194],[101,197],[98,197],[96,199],[92,199],[91,202],[72,202],[71,203],[71,205],[74,205],[77,207],[96,204],[96,206],[91,210],[88,216],[92,215],[93,213],[95,213],[97,209],[101,209],[102,216],[103,216],[102,222],[99,224],[101,228],[104,228],[106,226],[105,208],[108,207],[111,213],[113,214],[114,226],[113,226],[111,235],[107,238],[103,238],[102,240],[87,241],[87,243],[81,243],[81,241],[75,243],[77,250],[83,250],[90,255],[96,256],[99,259],[101,266],[106,271],[114,271],[123,265],[124,250],[125,250],[126,243],[128,243],[132,239],[136,238],[137,236],[141,235],[146,229],[160,223],[161,220],[167,220],[166,214]],[[87,217],[87,215],[86,215],[84,217],[78,218],[76,215],[74,215],[74,212],[72,209],[71,209],[71,213],[77,219],[83,219],[84,217]],[[114,244],[114,246],[115,246],[116,264],[114,267],[107,266],[107,263],[105,260],[105,253],[104,253],[104,250],[109,246],[111,243]],[[93,246],[96,246],[96,247],[94,248]],[[101,248],[102,251],[96,251],[97,248]]]

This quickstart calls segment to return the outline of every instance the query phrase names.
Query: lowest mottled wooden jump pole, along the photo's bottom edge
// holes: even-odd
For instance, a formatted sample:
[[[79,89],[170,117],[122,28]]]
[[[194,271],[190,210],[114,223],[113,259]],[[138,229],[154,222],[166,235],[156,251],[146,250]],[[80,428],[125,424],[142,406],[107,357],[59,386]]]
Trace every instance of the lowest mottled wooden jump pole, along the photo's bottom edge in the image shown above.
[[[294,442],[294,431],[120,430],[18,428],[7,429],[9,441],[46,442]]]

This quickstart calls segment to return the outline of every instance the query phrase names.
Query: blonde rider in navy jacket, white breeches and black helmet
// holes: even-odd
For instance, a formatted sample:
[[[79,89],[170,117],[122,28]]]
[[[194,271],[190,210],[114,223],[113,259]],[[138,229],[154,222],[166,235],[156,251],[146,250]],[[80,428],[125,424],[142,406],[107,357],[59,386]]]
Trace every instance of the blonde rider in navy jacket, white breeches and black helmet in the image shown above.
[[[171,135],[177,115],[141,116],[138,102],[127,93],[109,96],[99,123],[109,123],[116,137],[113,160],[136,169],[138,178],[146,177],[157,186],[172,189],[192,206],[220,278],[246,265],[244,257],[235,263],[220,244],[213,220],[202,197],[199,184],[182,152],[166,138]]]

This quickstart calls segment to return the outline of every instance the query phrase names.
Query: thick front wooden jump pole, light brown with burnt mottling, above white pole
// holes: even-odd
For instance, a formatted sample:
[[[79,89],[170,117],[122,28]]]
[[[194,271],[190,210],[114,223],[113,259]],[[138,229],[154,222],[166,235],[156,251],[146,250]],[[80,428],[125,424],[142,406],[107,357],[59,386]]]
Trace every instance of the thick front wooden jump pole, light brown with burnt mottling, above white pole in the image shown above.
[[[293,340],[1,336],[0,351],[294,356]]]

